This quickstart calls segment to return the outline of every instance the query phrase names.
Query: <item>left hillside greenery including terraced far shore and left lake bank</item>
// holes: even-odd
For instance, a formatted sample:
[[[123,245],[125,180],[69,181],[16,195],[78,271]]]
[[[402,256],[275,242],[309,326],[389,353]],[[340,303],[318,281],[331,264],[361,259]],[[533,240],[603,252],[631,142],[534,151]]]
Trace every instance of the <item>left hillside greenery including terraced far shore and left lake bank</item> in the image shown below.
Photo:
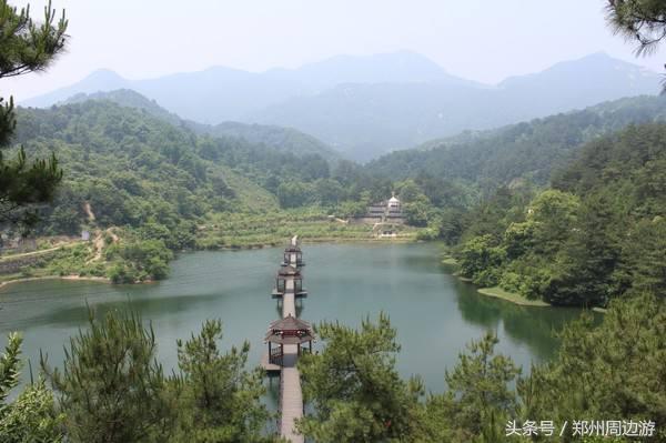
[[[344,219],[392,191],[405,195],[408,222],[426,228],[407,226],[401,238],[433,239],[446,218],[436,205],[464,208],[474,199],[435,178],[392,182],[349,161],[201,135],[141,95],[110,98],[133,109],[95,99],[19,110],[17,142],[34,155],[54,150],[64,170],[37,234],[88,230],[93,238],[27,274],[137,282],[164,278],[173,253],[185,249],[279,244],[296,231],[306,241],[371,240],[372,226]],[[110,230],[119,239],[109,241]]]

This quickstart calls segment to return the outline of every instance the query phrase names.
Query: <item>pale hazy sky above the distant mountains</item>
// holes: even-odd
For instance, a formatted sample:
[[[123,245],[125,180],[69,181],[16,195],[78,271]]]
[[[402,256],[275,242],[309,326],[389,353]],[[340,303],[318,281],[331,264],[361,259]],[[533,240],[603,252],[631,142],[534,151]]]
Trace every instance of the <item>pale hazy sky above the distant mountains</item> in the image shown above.
[[[597,51],[655,71],[666,62],[665,50],[635,58],[634,44],[610,33],[606,0],[52,1],[70,19],[68,53],[47,73],[2,80],[2,95],[20,101],[99,68],[141,79],[211,66],[295,68],[401,49],[486,83]],[[41,17],[47,1],[30,3]]]

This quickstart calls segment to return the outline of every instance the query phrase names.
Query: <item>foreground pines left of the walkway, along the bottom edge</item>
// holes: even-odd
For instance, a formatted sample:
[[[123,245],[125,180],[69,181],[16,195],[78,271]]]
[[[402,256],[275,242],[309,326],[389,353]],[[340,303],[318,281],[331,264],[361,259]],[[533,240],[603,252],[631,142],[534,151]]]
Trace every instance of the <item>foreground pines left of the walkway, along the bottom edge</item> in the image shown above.
[[[62,425],[49,427],[52,440],[46,441],[273,441],[262,435],[270,415],[260,403],[264,393],[261,373],[245,369],[249,345],[222,353],[218,348],[221,331],[219,321],[206,321],[200,334],[178,341],[179,370],[167,376],[155,360],[151,326],[144,326],[134,314],[112,311],[97,319],[91,313],[89,329],[71,339],[62,370],[51,369],[42,359],[62,412],[51,413]],[[11,340],[14,355],[20,343]],[[17,371],[10,376],[18,380]],[[46,390],[43,382],[38,387]],[[29,386],[26,392],[31,390]],[[44,392],[52,411],[53,395],[50,390]],[[31,419],[30,413],[17,412],[23,421]]]

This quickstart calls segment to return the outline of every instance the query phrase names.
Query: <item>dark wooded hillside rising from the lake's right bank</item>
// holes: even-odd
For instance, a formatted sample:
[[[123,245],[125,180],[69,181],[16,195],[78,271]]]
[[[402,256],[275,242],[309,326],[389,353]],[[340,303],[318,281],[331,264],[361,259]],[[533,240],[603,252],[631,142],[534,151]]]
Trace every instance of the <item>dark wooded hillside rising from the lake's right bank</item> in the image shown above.
[[[553,304],[666,293],[666,124],[587,143],[529,200],[507,189],[470,217],[464,276]]]

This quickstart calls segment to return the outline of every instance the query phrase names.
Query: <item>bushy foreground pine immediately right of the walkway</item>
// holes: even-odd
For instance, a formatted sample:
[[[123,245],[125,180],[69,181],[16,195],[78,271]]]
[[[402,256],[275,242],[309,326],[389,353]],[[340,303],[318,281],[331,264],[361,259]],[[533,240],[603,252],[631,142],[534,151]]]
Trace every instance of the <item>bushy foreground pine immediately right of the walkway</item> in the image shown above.
[[[415,441],[423,386],[395,370],[400,345],[389,318],[366,319],[360,330],[322,323],[316,332],[326,346],[299,362],[303,394],[314,409],[299,431],[322,443]]]

